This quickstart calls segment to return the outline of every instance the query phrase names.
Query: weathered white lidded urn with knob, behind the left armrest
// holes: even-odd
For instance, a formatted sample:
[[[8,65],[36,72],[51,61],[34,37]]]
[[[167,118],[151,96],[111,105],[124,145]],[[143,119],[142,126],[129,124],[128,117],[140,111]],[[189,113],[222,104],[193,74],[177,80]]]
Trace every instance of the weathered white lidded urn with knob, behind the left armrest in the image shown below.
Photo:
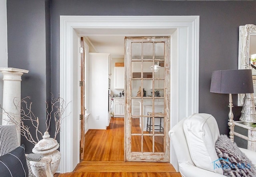
[[[43,139],[41,139],[32,149],[33,153],[43,155],[44,157],[50,157],[52,159],[52,174],[56,172],[60,165],[61,154],[60,151],[57,150],[59,146],[59,143],[55,139],[50,138],[48,131],[46,131],[44,132]],[[45,163],[30,161],[30,165],[31,170],[36,177],[46,177]]]

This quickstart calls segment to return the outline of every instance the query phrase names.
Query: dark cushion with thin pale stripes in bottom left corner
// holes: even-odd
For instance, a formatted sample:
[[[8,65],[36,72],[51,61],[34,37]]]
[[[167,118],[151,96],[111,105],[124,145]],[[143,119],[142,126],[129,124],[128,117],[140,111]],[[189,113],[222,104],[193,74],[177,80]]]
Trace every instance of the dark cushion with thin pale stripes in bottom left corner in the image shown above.
[[[0,176],[28,177],[24,147],[19,146],[10,153],[0,156]]]

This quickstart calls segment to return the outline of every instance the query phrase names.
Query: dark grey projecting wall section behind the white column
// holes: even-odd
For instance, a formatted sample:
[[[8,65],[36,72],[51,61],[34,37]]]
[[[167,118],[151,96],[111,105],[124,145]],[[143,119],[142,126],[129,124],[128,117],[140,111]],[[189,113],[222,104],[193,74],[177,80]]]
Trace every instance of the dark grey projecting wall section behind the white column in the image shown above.
[[[46,79],[50,73],[49,5],[49,0],[7,0],[8,67],[29,70],[22,76],[21,98],[31,97],[32,111],[40,121],[42,133],[46,121],[46,92],[50,91],[50,75]],[[22,143],[27,152],[34,147],[24,137]]]

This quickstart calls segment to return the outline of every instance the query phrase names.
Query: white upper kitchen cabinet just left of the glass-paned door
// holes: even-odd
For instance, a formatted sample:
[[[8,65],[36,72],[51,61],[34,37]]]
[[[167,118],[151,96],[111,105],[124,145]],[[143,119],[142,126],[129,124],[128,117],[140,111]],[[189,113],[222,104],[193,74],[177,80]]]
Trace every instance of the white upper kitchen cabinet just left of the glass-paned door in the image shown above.
[[[114,89],[124,89],[124,67],[114,67]]]

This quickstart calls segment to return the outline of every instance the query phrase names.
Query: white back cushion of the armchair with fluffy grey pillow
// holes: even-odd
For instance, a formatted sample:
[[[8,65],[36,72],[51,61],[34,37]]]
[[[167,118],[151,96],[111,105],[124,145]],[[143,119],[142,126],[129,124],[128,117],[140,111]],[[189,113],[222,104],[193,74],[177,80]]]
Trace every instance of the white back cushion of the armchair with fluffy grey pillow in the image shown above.
[[[183,129],[194,164],[199,168],[223,174],[222,169],[214,169],[213,166],[213,162],[218,160],[215,141],[220,135],[215,118],[206,113],[194,114],[184,121]]]

